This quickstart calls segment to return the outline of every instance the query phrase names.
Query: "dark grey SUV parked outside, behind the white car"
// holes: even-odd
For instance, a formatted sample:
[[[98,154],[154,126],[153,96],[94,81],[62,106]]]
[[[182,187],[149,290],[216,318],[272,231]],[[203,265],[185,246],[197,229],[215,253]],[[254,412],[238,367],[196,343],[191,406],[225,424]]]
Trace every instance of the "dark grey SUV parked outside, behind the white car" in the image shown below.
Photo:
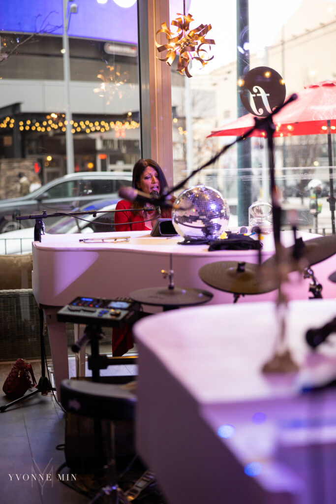
[[[64,175],[20,198],[0,201],[0,233],[30,227],[29,216],[46,211],[48,214],[75,211],[90,202],[118,197],[121,185],[131,185],[131,173],[102,171]],[[57,217],[51,217],[53,222]],[[50,221],[49,221],[50,222]]]

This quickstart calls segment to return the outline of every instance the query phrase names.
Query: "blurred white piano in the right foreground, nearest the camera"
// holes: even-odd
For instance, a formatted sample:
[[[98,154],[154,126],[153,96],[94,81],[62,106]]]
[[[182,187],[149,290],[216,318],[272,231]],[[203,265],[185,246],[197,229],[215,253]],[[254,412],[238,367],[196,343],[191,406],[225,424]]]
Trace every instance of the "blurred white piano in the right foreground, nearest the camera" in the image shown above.
[[[336,300],[291,301],[286,339],[298,370],[265,374],[275,303],[204,305],[138,321],[137,452],[168,504],[334,504],[336,334],[308,329]],[[155,336],[155,337],[153,337]]]

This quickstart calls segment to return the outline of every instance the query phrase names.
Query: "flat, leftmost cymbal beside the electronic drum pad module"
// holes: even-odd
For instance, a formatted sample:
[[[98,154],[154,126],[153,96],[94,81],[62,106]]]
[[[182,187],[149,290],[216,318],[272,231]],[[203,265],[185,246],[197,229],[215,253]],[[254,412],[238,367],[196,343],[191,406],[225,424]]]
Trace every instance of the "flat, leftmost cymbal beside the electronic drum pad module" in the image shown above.
[[[138,303],[153,306],[192,306],[210,301],[213,294],[207,290],[192,289],[189,287],[149,287],[131,292],[129,297]]]

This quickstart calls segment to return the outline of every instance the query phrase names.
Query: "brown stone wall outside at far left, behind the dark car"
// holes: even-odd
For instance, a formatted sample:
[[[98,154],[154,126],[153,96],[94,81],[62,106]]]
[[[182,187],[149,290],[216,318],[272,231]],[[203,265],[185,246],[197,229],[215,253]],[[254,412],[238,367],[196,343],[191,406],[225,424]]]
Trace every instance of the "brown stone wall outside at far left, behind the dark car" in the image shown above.
[[[36,178],[35,159],[0,159],[0,200],[20,196],[19,173],[32,182]]]

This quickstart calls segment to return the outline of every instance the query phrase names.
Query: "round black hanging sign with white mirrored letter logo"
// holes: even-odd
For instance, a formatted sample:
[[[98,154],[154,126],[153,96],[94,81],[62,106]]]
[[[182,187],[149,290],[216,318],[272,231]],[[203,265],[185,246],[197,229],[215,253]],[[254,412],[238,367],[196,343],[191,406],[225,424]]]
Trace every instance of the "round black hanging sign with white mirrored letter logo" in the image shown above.
[[[242,104],[248,112],[259,117],[273,112],[286,98],[284,79],[269,67],[253,68],[238,84]]]

